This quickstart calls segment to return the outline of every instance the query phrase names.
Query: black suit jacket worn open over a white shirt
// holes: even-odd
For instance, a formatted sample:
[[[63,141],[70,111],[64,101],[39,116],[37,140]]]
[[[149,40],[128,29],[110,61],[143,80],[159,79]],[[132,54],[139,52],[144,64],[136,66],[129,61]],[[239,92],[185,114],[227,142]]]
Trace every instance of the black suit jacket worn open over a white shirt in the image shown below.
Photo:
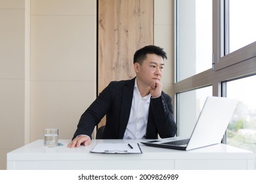
[[[102,138],[123,139],[131,111],[134,86],[135,78],[110,82],[82,114],[73,139],[77,135],[91,137],[95,125],[105,114],[106,126]],[[176,131],[171,97],[162,92],[160,97],[150,99],[146,139],[158,139],[158,134],[161,138],[173,137]]]

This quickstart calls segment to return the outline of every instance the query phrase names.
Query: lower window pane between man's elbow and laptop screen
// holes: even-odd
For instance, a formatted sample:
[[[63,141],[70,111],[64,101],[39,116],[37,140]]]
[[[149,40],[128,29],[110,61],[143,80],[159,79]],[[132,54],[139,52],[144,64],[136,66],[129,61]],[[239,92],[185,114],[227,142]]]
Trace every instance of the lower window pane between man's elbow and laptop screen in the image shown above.
[[[212,86],[179,93],[178,135],[190,137],[203,108],[205,99],[212,95]]]

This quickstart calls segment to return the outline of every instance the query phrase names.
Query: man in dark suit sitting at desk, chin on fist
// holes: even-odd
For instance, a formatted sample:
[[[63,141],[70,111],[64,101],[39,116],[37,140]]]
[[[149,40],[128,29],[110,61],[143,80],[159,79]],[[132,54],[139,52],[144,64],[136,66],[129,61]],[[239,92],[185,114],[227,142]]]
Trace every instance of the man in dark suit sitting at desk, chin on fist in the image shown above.
[[[136,77],[110,82],[81,116],[68,147],[87,146],[95,125],[106,115],[102,139],[157,139],[173,137],[171,97],[162,92],[160,82],[166,53],[158,46],[135,52]]]

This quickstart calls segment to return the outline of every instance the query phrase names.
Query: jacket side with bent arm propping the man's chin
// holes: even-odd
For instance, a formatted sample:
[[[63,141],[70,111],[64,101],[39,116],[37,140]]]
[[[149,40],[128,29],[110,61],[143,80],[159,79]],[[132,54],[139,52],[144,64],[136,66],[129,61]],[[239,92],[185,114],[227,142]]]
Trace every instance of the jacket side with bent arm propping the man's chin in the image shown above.
[[[150,111],[148,116],[148,129],[146,137],[157,139],[155,134],[161,138],[174,137],[177,133],[177,125],[173,119],[173,106],[171,97],[162,93],[156,99],[150,99]]]

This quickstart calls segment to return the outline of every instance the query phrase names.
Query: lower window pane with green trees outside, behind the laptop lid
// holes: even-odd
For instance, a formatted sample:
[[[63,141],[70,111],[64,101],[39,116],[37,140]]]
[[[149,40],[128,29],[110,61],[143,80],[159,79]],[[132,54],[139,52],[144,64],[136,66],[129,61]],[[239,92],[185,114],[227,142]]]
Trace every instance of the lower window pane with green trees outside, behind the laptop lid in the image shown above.
[[[228,125],[226,144],[256,153],[256,75],[226,83],[226,96],[239,99]],[[256,167],[256,156],[255,156]]]

